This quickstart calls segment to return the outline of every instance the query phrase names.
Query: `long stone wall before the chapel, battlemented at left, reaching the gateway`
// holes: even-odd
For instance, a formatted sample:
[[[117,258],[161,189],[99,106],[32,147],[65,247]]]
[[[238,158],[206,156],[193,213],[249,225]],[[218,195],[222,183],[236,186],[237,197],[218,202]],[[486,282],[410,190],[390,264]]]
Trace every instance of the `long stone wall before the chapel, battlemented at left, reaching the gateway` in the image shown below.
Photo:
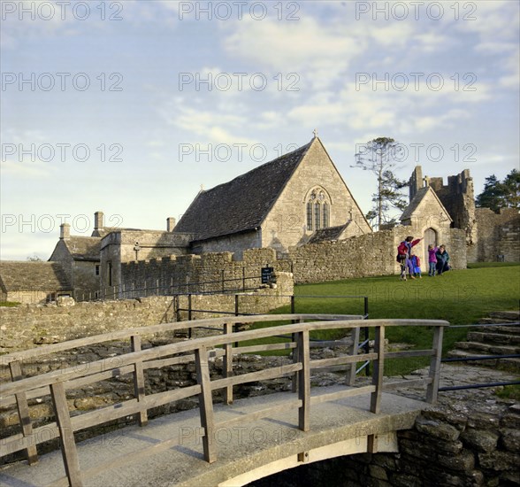
[[[257,287],[261,269],[267,265],[273,267],[276,273],[293,272],[295,283],[398,274],[399,265],[395,261],[397,246],[414,232],[420,236],[417,228],[400,226],[335,242],[308,243],[290,248],[287,259],[277,259],[276,251],[264,248],[244,251],[243,260],[233,259],[232,252],[215,252],[128,262],[121,266],[122,287],[114,292],[119,296],[122,293],[122,297],[136,297],[140,293],[142,295],[145,288],[151,294],[171,294],[172,290],[231,290],[241,288],[244,275],[256,277],[247,279],[247,287]],[[439,243],[447,245],[452,267],[466,268],[464,230],[450,228],[440,231],[439,240]],[[424,255],[422,246],[417,246],[417,249],[418,255]],[[427,262],[424,258],[422,260],[425,272]],[[223,279],[235,281],[223,282]],[[205,284],[195,289],[195,282]]]

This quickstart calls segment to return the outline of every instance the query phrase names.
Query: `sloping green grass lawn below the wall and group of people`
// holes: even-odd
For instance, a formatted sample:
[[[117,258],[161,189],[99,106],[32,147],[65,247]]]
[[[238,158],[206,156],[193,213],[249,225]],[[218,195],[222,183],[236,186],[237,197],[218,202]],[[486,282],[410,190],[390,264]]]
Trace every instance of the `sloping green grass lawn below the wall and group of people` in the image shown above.
[[[452,325],[477,323],[492,311],[518,309],[518,265],[507,263],[509,265],[505,266],[501,264],[506,263],[498,262],[486,264],[493,266],[478,265],[476,268],[450,271],[435,277],[424,275],[422,279],[415,281],[401,282],[399,276],[393,275],[297,285],[294,287],[295,312],[363,314],[363,298],[340,298],[341,296],[368,296],[370,318],[446,320]],[[279,312],[289,313],[288,306],[273,313]],[[272,323],[265,326],[272,326]],[[462,340],[467,332],[468,329],[446,330],[444,354],[453,348],[456,341]],[[320,339],[340,336],[341,332],[328,330],[314,333],[314,337]],[[427,349],[432,344],[432,329],[388,327],[386,338],[390,344],[406,343],[417,349]],[[409,368],[411,366],[423,367],[426,363],[427,359],[409,359],[405,369],[413,369]],[[401,370],[401,367],[398,368]],[[392,368],[387,371],[393,372]]]

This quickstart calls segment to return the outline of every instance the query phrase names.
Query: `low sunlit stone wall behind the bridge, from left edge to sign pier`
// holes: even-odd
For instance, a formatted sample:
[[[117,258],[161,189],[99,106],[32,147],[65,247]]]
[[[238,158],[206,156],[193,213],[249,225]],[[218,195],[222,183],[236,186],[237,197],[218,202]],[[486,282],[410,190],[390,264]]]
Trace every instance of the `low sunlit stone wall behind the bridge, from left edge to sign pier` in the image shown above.
[[[267,313],[290,303],[293,294],[291,274],[279,273],[276,285],[243,293],[239,312]],[[83,336],[101,335],[119,329],[146,327],[176,321],[177,307],[187,308],[187,297],[172,296],[90,301],[76,303],[72,298],[58,304],[0,306],[0,353],[17,352],[41,344],[53,344]],[[192,297],[195,309],[234,312],[234,296],[214,294]],[[195,313],[193,319],[216,317],[215,313]],[[187,313],[180,313],[180,320]]]

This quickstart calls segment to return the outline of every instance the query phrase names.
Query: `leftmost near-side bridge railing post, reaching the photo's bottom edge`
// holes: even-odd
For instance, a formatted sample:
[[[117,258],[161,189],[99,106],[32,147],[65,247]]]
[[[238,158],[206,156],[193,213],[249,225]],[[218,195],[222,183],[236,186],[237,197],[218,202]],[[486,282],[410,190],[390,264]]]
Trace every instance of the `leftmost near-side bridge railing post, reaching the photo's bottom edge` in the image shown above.
[[[65,474],[69,479],[71,487],[81,487],[80,460],[78,450],[74,441],[73,425],[65,397],[65,387],[63,383],[50,384],[50,396],[54,405],[59,438],[61,440],[61,454],[65,465]]]

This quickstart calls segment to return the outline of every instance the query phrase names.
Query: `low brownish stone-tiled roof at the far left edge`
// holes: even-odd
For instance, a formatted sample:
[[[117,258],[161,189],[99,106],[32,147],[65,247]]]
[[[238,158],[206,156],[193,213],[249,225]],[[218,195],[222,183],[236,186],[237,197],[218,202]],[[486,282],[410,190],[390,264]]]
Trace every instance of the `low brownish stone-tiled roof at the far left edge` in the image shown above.
[[[0,262],[0,282],[7,292],[17,290],[72,290],[57,262]]]

